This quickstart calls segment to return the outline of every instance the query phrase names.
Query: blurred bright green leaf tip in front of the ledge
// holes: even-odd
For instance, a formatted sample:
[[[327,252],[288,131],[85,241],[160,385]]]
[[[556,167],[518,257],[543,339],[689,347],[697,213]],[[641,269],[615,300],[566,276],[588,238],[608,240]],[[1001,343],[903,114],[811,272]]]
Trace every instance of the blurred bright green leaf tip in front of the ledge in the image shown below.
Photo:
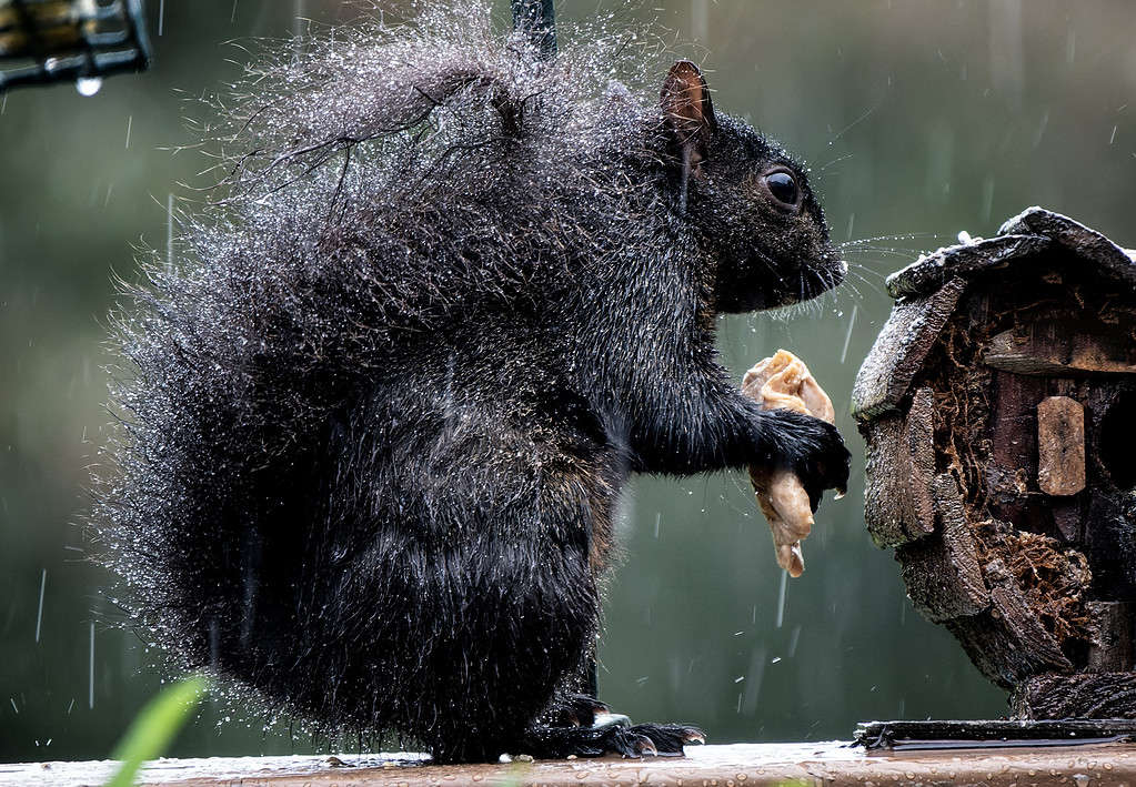
[[[209,688],[203,676],[193,676],[169,686],[134,718],[111,755],[122,764],[107,787],[131,787],[142,763],[157,760]]]

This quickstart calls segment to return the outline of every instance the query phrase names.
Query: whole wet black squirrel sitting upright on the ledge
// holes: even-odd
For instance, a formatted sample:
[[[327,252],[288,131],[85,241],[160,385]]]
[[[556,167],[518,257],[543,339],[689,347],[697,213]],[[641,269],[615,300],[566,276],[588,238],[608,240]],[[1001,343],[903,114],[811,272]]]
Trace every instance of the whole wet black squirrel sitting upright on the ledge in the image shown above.
[[[749,464],[843,489],[835,428],[741,395],[713,340],[844,267],[694,64],[602,31],[544,60],[462,12],[310,41],[225,110],[226,196],[124,285],[97,537],[144,636],[323,729],[678,753],[699,730],[574,693],[617,497]]]

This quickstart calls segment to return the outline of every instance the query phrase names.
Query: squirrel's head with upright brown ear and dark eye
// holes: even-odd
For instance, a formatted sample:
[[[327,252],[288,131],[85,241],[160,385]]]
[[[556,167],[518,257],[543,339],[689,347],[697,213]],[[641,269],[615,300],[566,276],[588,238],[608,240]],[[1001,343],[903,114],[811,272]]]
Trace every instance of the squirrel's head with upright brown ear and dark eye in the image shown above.
[[[679,210],[715,262],[716,311],[797,303],[844,279],[800,164],[745,123],[716,117],[690,60],[671,67],[660,103]]]

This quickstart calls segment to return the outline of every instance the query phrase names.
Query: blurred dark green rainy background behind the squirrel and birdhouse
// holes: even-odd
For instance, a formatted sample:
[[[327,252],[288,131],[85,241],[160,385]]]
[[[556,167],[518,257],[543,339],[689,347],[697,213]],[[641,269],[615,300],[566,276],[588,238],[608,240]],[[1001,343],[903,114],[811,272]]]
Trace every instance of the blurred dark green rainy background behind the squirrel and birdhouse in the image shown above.
[[[598,8],[561,0],[559,12]],[[165,248],[168,195],[204,168],[172,150],[194,140],[185,100],[237,74],[245,55],[227,41],[359,12],[329,0],[150,0],[148,11],[149,73],[93,98],[73,85],[0,98],[0,761],[106,756],[164,676],[159,654],[100,622],[107,577],[84,561],[76,522],[107,420],[111,276],[134,275],[140,244]],[[826,501],[805,543],[804,576],[780,604],[741,476],[638,479],[609,587],[602,696],[637,720],[702,725],[711,742],[1002,714],[1002,693],[910,608],[896,563],[868,539],[850,391],[889,309],[882,275],[919,250],[960,229],[992,234],[1030,204],[1136,245],[1136,5],[660,0],[619,16],[655,19],[676,53],[705,64],[719,111],[811,162],[837,240],[884,237],[850,252],[850,283],[821,308],[722,324],[738,375],[778,346],[807,359],[857,457],[847,499]],[[311,748],[225,714],[207,704],[173,753]]]

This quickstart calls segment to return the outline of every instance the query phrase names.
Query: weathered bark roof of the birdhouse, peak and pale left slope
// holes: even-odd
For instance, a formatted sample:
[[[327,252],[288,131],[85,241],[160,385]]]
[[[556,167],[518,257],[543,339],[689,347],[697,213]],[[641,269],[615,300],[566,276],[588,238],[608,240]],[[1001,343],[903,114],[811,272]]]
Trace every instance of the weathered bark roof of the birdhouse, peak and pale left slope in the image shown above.
[[[857,420],[872,421],[896,409],[977,276],[1000,270],[1028,275],[1028,266],[1043,257],[1070,269],[1091,267],[1136,299],[1136,252],[1067,216],[1029,208],[1003,224],[994,237],[921,256],[887,278],[887,292],[896,303],[857,374],[852,391]]]

